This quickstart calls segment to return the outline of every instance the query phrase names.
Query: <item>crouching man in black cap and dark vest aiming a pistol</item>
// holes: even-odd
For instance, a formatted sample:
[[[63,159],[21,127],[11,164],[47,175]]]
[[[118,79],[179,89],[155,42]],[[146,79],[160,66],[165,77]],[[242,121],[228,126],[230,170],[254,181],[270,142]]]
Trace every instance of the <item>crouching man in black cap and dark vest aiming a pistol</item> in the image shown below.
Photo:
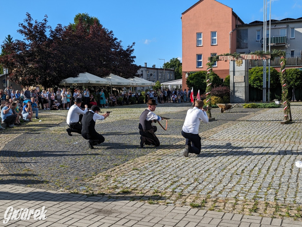
[[[99,115],[100,107],[93,105],[82,118],[82,137],[88,140],[89,148],[93,149],[93,145],[103,143],[105,138],[95,131],[95,121],[104,120],[110,113]]]

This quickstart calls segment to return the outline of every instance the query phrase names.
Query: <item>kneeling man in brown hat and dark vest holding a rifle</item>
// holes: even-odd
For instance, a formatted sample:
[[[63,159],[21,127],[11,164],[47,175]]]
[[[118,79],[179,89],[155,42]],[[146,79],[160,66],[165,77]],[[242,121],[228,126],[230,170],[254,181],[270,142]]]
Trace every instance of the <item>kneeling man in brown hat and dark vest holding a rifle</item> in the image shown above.
[[[138,128],[140,129],[140,146],[144,147],[144,144],[159,146],[159,140],[154,134],[157,131],[157,127],[152,125],[152,122],[161,121],[163,118],[153,113],[157,106],[154,99],[149,99],[147,102],[148,109],[140,115],[140,123]]]

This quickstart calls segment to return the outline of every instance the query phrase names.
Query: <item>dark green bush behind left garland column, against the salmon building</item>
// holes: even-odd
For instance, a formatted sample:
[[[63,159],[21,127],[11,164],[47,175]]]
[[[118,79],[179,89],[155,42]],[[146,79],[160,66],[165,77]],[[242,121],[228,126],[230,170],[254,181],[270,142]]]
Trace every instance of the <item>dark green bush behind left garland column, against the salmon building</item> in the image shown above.
[[[203,94],[205,92],[207,87],[206,76],[207,71],[199,71],[188,76],[186,84],[190,88],[193,87],[194,95],[197,94],[198,90],[200,94]],[[221,79],[216,73],[214,73],[212,86],[214,87],[219,85],[221,85]]]

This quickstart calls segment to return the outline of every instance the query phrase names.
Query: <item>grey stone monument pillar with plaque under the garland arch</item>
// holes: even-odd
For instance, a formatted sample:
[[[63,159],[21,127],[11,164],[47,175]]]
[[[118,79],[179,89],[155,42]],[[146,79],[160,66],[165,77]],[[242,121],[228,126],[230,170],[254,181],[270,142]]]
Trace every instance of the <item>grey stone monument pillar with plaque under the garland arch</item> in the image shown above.
[[[241,66],[230,61],[230,102],[249,102],[249,62],[243,60]]]

